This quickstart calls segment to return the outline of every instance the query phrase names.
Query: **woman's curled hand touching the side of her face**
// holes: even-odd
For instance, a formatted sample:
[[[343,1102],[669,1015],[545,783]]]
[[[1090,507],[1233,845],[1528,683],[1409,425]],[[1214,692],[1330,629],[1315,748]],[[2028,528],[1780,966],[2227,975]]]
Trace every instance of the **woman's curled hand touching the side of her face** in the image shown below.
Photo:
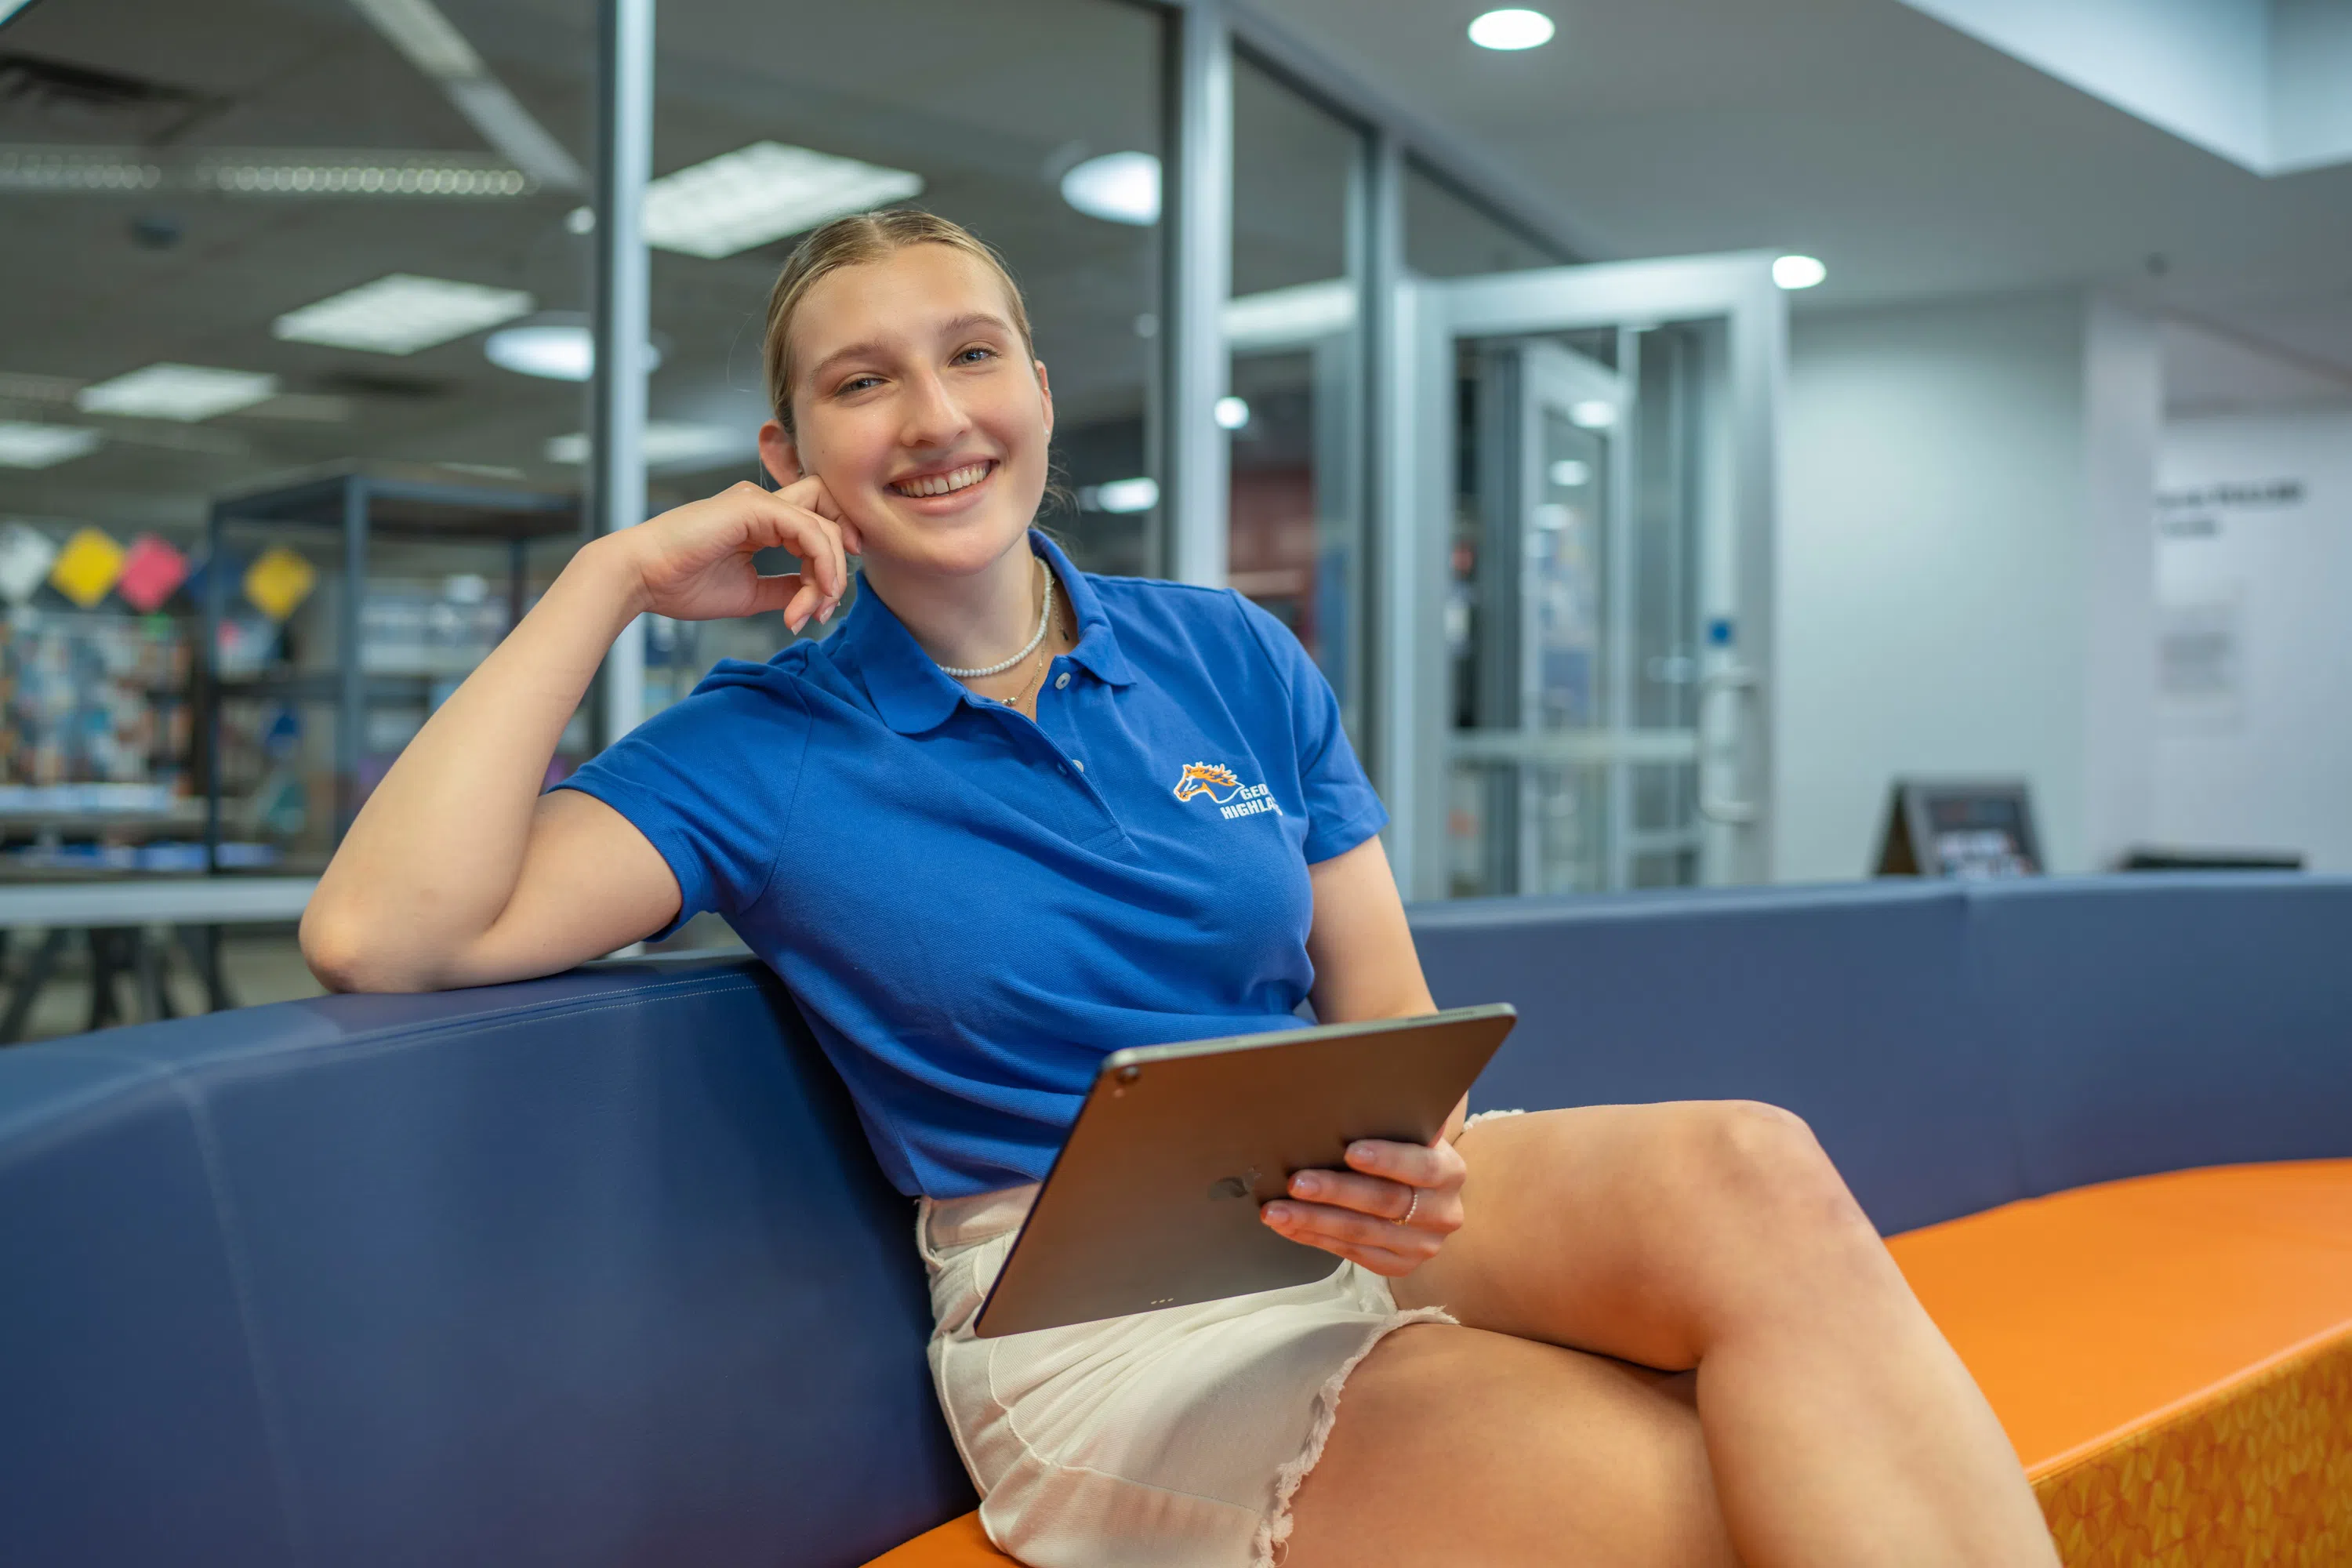
[[[818,477],[779,491],[753,482],[729,484],[706,501],[689,501],[635,529],[614,534],[642,583],[642,604],[673,621],[724,621],[783,611],[795,632],[811,616],[826,621],[849,592],[856,524],[826,494]],[[760,576],[755,550],[783,548],[800,571]]]

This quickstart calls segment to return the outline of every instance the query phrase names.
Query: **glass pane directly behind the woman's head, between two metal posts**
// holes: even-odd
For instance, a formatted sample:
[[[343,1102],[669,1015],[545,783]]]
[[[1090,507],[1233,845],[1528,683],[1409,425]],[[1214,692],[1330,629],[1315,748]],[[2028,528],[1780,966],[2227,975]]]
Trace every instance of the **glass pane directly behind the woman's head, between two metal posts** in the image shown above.
[[[924,207],[993,244],[1028,296],[1056,416],[1040,527],[1089,571],[1157,576],[1164,16],[1122,0],[663,0],[659,28],[649,503],[757,473],[764,306],[793,244],[833,216]],[[729,188],[748,195],[699,195]],[[647,710],[788,637],[774,616],[652,623]]]

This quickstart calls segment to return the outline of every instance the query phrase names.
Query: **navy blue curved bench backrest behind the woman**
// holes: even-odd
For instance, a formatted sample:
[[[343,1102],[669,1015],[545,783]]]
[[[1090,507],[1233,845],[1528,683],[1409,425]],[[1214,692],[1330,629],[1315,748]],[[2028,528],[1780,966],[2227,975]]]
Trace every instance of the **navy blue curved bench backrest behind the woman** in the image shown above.
[[[2352,882],[1414,912],[1491,1105],[1752,1095],[1886,1229],[2352,1154]],[[913,1206],[753,961],[0,1051],[0,1561],[849,1566],[971,1505]]]

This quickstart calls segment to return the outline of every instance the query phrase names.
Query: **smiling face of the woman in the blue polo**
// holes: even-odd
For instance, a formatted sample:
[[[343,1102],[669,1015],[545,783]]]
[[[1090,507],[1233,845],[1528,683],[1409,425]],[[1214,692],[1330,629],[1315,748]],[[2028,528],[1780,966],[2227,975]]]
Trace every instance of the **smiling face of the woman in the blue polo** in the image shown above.
[[[760,449],[790,482],[814,473],[866,557],[967,576],[1021,543],[1047,482],[1054,397],[976,256],[908,244],[842,266],[790,320],[793,433]]]

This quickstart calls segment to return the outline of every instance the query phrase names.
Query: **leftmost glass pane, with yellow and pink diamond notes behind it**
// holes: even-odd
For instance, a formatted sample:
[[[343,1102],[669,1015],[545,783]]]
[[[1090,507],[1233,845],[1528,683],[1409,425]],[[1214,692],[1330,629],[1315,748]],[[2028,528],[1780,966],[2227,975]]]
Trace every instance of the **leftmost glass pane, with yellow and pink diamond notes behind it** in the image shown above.
[[[501,350],[588,353],[593,0],[423,9],[0,31],[0,877],[318,870],[579,538],[579,381]],[[470,503],[353,574],[266,501],[346,475]]]

